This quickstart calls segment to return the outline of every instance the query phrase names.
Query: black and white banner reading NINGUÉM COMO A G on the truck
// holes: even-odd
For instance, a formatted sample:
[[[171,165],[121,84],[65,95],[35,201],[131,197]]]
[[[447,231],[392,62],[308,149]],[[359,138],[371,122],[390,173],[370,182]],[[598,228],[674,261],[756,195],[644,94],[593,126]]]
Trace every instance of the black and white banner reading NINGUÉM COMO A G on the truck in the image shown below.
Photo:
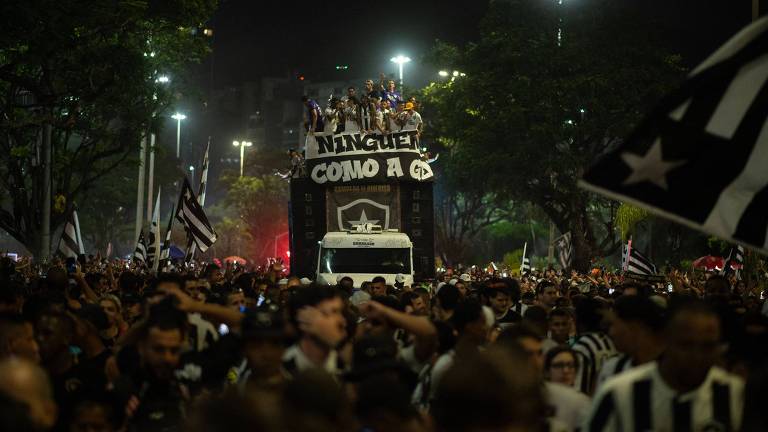
[[[421,159],[416,131],[308,135],[306,163],[309,177],[319,184],[431,181],[433,177],[429,164]]]

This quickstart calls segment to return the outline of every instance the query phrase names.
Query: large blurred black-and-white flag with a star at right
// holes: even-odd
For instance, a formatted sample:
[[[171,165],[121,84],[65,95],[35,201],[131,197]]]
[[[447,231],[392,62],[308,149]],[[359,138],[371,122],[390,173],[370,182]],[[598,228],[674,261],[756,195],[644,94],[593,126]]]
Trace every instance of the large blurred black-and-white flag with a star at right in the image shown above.
[[[768,17],[694,69],[580,185],[768,252]]]

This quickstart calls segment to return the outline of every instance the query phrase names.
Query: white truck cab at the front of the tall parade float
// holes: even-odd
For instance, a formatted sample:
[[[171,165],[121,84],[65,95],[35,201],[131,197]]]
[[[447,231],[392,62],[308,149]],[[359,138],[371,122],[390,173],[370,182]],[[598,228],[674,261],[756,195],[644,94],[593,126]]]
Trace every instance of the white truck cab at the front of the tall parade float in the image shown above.
[[[317,280],[335,284],[343,276],[352,278],[355,287],[383,276],[388,285],[398,274],[404,284],[413,285],[413,243],[397,230],[379,225],[356,225],[354,229],[329,232],[319,243]]]

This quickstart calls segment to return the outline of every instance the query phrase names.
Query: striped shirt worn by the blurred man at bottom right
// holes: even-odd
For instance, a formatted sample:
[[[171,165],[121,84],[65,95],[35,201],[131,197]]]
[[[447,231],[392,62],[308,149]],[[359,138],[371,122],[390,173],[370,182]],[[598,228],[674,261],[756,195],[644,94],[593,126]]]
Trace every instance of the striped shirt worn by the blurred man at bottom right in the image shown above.
[[[744,383],[712,367],[695,390],[677,394],[651,362],[609,379],[598,391],[584,431],[735,431]]]

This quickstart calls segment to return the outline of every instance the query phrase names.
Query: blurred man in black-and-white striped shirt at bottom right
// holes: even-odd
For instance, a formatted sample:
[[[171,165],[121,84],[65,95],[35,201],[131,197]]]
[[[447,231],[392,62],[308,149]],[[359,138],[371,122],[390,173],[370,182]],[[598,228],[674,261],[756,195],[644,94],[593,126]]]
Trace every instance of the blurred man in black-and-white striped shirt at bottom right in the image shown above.
[[[717,314],[700,302],[682,305],[666,337],[658,361],[603,385],[585,430],[739,430],[744,383],[715,366],[722,352]]]

